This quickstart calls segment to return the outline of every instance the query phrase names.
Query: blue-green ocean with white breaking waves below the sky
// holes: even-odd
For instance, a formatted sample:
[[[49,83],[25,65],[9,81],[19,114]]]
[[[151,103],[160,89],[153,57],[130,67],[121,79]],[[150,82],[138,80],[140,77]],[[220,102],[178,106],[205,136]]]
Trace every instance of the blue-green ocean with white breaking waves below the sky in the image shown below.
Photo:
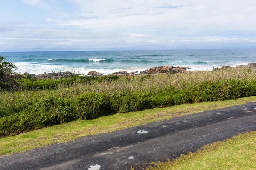
[[[121,70],[140,72],[163,65],[212,70],[256,62],[256,49],[1,52],[0,55],[14,62],[17,72],[33,74],[52,70],[84,74],[93,70],[102,74]]]

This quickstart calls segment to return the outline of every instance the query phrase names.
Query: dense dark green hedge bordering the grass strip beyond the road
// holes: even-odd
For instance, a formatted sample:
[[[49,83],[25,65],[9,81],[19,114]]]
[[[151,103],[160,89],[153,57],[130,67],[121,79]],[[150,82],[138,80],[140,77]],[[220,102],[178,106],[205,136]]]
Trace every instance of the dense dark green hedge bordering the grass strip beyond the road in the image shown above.
[[[105,93],[87,93],[76,99],[54,95],[43,96],[18,113],[6,113],[0,118],[0,136],[70,122],[76,119],[94,119],[114,113],[160,108],[183,103],[220,101],[256,96],[256,80],[221,80],[204,82],[195,88],[168,92],[140,93],[139,91],[108,96]]]

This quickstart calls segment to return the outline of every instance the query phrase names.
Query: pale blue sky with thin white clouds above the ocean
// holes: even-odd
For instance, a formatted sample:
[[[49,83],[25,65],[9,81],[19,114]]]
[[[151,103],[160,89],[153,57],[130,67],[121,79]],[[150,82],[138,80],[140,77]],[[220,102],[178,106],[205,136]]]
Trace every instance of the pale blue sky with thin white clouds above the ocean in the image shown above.
[[[0,0],[0,51],[256,48],[256,0]]]

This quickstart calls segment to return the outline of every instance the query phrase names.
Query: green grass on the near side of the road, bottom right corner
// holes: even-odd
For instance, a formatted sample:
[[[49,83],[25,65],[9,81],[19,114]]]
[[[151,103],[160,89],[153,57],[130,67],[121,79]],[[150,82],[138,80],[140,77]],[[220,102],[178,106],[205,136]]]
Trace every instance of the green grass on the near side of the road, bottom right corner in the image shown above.
[[[239,134],[202,147],[168,162],[152,163],[147,170],[255,170],[256,132]]]

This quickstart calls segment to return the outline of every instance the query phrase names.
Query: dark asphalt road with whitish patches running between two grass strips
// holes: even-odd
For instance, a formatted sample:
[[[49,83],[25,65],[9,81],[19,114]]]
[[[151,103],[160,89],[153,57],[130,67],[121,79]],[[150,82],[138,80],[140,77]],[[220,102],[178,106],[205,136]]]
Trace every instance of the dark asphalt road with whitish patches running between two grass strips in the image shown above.
[[[256,131],[256,102],[6,156],[0,169],[141,170],[246,131]]]

